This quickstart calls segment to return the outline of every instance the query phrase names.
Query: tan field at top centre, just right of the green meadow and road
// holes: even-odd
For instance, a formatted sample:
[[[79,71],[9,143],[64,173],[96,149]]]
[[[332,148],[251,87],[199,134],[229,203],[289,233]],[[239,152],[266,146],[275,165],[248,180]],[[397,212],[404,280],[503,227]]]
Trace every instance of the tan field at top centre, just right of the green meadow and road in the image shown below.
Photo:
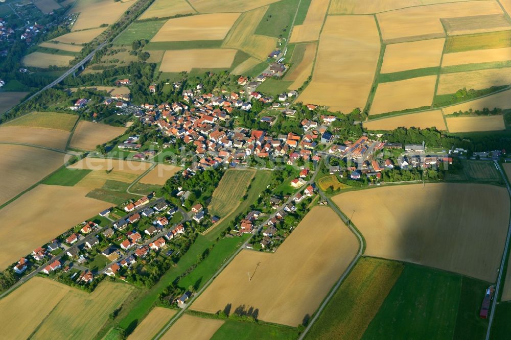
[[[330,0],[312,0],[302,25],[293,27],[290,42],[318,40]]]

